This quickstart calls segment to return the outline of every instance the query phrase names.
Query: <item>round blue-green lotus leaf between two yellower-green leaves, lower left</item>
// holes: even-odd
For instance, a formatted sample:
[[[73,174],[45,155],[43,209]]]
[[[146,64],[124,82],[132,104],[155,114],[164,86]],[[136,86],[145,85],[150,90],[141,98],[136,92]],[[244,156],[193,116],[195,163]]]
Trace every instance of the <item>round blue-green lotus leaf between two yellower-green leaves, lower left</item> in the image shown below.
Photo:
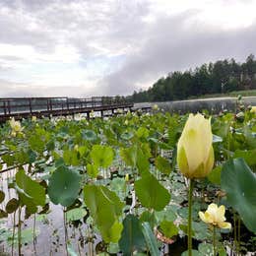
[[[80,174],[66,166],[58,167],[49,178],[48,195],[55,205],[68,207],[74,203],[80,191]]]

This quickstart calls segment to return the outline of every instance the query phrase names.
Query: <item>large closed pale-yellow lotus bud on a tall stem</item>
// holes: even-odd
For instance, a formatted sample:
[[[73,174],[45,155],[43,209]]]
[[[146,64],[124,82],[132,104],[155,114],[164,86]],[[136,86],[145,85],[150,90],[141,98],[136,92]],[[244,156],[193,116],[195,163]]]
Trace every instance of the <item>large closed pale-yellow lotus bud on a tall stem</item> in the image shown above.
[[[214,165],[211,119],[190,114],[177,145],[177,164],[187,178],[203,178]]]

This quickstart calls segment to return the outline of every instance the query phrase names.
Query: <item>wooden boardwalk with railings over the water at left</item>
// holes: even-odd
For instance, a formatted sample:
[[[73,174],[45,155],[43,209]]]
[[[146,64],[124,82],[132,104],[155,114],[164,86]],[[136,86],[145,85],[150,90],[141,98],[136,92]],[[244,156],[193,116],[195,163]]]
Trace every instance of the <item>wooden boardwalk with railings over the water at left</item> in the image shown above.
[[[2,97],[0,98],[0,122],[32,116],[58,116],[100,112],[100,116],[116,114],[118,109],[131,110],[133,103],[121,96],[75,97]],[[104,112],[107,112],[106,114]]]

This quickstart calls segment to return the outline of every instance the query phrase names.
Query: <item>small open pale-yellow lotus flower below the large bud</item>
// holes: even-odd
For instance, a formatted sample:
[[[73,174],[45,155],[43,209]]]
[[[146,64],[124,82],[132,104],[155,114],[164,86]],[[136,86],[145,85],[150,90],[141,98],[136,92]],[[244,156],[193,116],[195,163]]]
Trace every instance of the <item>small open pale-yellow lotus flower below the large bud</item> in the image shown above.
[[[200,219],[206,224],[217,225],[220,228],[231,228],[231,224],[225,223],[224,218],[224,206],[218,207],[216,204],[211,204],[208,206],[205,213],[199,212]]]

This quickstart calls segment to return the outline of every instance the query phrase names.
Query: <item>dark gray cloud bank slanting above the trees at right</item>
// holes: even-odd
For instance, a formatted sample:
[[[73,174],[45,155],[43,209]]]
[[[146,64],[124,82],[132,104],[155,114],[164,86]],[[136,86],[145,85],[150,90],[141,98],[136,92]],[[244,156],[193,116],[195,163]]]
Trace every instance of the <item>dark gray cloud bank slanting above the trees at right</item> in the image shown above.
[[[130,55],[120,70],[105,77],[100,87],[108,95],[113,92],[127,95],[140,86],[151,86],[169,72],[224,58],[241,61],[256,52],[256,24],[235,31],[203,24],[186,26],[193,16],[194,12],[160,19],[148,32],[148,40],[141,50]]]

